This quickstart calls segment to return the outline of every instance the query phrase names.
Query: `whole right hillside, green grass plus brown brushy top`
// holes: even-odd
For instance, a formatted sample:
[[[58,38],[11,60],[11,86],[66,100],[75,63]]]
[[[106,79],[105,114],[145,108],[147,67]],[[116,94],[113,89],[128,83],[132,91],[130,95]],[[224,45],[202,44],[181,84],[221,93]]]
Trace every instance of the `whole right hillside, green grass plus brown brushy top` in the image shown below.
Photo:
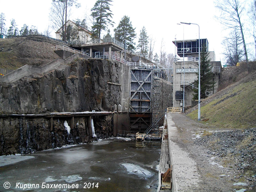
[[[201,120],[224,129],[245,129],[256,124],[255,62],[248,74],[244,66],[226,68],[222,73],[221,91],[201,101]],[[198,106],[186,111],[197,119]]]

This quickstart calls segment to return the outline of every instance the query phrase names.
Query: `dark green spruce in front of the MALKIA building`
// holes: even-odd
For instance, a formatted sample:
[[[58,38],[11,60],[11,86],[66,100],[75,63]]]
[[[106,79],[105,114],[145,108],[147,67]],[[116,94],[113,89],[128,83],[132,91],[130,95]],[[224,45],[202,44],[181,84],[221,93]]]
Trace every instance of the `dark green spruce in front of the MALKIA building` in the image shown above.
[[[211,93],[215,82],[213,82],[212,66],[210,65],[209,53],[201,52],[200,54],[200,84],[201,91],[200,97],[204,99]],[[197,75],[198,76],[198,75]],[[198,85],[198,79],[194,83]],[[198,89],[193,89],[195,94],[193,95],[194,100],[198,100]]]

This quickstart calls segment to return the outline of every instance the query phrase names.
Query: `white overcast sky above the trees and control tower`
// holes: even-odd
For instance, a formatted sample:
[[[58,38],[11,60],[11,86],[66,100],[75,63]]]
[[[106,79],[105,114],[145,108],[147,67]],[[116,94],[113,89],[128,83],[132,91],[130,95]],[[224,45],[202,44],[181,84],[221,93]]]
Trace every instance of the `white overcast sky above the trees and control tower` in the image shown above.
[[[246,1],[249,2],[249,0]],[[6,17],[5,27],[10,27],[10,20],[13,18],[19,30],[23,24],[29,27],[34,25],[39,32],[47,28],[52,0],[1,0],[0,2],[0,12],[3,12]],[[90,15],[96,0],[78,0],[78,2],[81,3],[81,7],[72,8],[71,20],[84,19],[86,12]],[[175,37],[177,40],[183,40],[183,26],[177,23],[180,21],[197,23],[200,26],[200,38],[208,39],[209,51],[215,51],[216,60],[221,60],[223,64],[221,42],[227,31],[223,30],[223,26],[214,18],[219,14],[214,7],[214,0],[113,0],[110,9],[115,22],[114,27],[110,28],[112,36],[114,36],[113,29],[117,27],[121,18],[127,15],[130,17],[133,28],[136,28],[137,37],[140,29],[145,26],[148,35],[156,39],[154,53],[157,52],[158,55],[162,38],[165,51],[173,54],[175,46],[172,41]],[[52,37],[55,38],[54,32],[52,30]],[[184,39],[198,39],[198,27],[184,25]],[[136,39],[136,44],[137,42]]]

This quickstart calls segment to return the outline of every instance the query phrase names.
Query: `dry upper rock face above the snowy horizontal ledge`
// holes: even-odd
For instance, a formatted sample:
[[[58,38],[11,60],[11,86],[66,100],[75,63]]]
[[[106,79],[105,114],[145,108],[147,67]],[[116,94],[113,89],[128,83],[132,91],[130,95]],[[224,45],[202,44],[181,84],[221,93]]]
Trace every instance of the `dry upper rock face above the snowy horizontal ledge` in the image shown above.
[[[108,60],[78,59],[70,65],[0,84],[2,114],[113,111],[120,104],[118,65]]]

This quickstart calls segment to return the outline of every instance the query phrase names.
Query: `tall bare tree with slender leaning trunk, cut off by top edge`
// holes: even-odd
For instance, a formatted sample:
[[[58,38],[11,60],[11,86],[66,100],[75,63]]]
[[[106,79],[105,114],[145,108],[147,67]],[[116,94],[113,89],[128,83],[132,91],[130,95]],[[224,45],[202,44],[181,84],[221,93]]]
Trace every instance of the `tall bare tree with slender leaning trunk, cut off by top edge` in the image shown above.
[[[241,16],[244,12],[244,3],[239,2],[239,0],[222,0],[217,2],[216,7],[220,9],[221,12],[220,17],[218,17],[220,22],[227,28],[238,29],[240,31],[240,36],[243,41],[245,60],[247,63],[247,70],[249,72],[243,23],[241,22]]]

